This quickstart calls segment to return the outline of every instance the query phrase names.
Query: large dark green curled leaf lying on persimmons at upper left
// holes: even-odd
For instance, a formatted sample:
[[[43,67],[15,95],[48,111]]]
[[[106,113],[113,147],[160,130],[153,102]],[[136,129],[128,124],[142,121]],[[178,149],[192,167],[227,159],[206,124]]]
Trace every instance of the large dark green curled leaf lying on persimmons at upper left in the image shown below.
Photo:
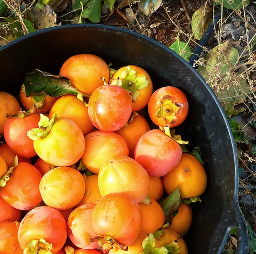
[[[52,97],[61,96],[63,94],[77,95],[79,93],[75,87],[71,86],[68,78],[54,76],[38,69],[26,75],[24,85],[27,97],[42,92]]]

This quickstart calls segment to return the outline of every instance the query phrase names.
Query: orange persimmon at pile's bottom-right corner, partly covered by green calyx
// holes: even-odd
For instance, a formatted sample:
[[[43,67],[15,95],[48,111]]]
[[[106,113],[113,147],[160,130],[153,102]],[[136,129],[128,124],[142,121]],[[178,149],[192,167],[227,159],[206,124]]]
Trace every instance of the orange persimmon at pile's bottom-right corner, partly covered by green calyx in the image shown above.
[[[162,234],[155,241],[156,248],[169,245],[169,248],[176,251],[176,253],[188,254],[187,244],[179,234],[167,228],[164,228],[161,231],[162,231]]]

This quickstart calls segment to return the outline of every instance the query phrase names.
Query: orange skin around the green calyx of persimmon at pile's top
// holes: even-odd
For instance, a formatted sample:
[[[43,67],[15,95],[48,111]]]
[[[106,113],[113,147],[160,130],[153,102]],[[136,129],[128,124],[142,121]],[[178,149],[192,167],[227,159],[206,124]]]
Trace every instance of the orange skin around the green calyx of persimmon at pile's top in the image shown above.
[[[142,69],[141,67],[137,66],[137,65],[128,65],[132,70],[136,71],[136,77],[141,77],[141,76],[145,76],[146,79],[148,80],[148,85],[147,87],[141,89],[138,89],[138,93],[139,96],[137,97],[136,100],[133,100],[132,103],[132,111],[139,111],[143,108],[145,108],[145,106],[148,104],[149,98],[151,96],[151,94],[153,93],[153,84],[152,84],[152,80],[148,74],[148,72],[144,69]],[[121,79],[122,80],[122,72],[125,70],[126,66],[118,69],[113,77],[111,79]]]

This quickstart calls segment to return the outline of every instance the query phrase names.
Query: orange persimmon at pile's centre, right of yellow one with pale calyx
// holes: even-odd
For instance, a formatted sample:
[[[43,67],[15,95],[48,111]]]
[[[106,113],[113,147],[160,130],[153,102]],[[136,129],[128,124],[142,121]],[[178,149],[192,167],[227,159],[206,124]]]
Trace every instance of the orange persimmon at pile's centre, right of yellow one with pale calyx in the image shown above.
[[[109,159],[129,154],[124,138],[114,132],[97,130],[85,136],[85,150],[82,156],[84,165],[94,174]]]

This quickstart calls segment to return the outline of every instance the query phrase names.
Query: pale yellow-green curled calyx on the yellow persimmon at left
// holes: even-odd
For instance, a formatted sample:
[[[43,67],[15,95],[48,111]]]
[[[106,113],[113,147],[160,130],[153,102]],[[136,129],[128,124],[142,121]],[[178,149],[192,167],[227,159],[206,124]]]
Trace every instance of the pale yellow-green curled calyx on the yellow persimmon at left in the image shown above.
[[[56,115],[55,115],[56,116]],[[39,128],[30,129],[27,133],[31,140],[38,140],[38,138],[45,138],[54,124],[55,116],[51,120],[44,114],[40,114],[40,120],[38,122]]]

